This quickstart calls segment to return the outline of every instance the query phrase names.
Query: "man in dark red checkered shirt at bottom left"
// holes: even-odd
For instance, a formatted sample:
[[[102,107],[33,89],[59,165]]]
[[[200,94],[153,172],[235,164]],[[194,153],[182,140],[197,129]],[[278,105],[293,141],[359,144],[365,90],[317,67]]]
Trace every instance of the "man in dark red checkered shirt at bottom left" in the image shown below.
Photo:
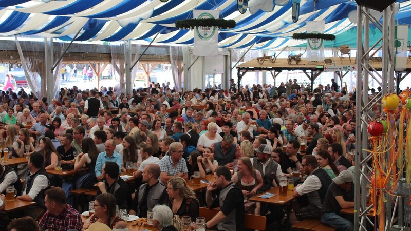
[[[66,204],[66,194],[61,188],[46,191],[44,199],[47,211],[39,222],[41,230],[61,231],[68,229],[81,230],[83,223],[79,212]]]

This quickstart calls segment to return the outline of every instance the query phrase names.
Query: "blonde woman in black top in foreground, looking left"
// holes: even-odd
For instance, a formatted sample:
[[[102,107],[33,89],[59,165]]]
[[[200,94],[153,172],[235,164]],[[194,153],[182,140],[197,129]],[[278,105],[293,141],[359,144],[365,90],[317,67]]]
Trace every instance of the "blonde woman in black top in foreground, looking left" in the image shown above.
[[[187,186],[181,177],[173,177],[167,182],[167,194],[169,203],[167,205],[173,214],[180,217],[189,216],[191,221],[195,221],[200,216],[199,204],[196,194]]]

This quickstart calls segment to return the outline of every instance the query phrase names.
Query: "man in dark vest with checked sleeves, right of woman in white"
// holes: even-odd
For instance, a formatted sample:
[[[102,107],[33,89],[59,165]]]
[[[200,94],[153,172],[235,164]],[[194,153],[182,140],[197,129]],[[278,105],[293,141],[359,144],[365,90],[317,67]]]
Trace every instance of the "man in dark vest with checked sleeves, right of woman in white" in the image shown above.
[[[234,159],[241,157],[240,146],[234,143],[234,137],[231,134],[225,134],[221,142],[212,144],[210,148],[219,166],[233,167]]]

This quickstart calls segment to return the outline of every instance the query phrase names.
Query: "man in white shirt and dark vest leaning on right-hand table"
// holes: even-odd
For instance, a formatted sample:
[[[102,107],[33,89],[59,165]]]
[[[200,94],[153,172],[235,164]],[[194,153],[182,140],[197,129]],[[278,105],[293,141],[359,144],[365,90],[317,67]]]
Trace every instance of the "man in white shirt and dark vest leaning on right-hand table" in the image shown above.
[[[298,203],[293,204],[294,211],[290,213],[292,225],[304,219],[321,218],[321,207],[332,182],[327,172],[318,166],[314,156],[305,155],[301,165],[307,178],[293,191],[293,196],[297,197]]]

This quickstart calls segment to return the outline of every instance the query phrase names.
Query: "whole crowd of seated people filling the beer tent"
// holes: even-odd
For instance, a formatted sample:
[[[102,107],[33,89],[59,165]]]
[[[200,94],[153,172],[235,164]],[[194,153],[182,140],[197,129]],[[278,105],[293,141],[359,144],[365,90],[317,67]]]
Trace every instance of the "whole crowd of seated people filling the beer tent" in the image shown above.
[[[296,79],[278,87],[240,88],[231,79],[227,89],[178,92],[169,83],[153,82],[129,94],[73,86],[62,88],[58,99],[37,99],[23,89],[2,91],[0,134],[9,158],[29,161],[3,165],[0,191],[12,184],[18,199],[36,202],[2,219],[30,216],[40,219],[33,225],[43,230],[86,230],[93,223],[116,228],[124,223],[116,205],[146,217],[156,208],[161,216],[169,214],[159,206],[164,204],[171,215],[192,221],[200,205],[219,207],[207,228],[242,230],[244,213],[271,216],[281,225],[281,206],[248,199],[297,172],[290,223],[317,218],[353,230],[340,210],[353,206],[349,153],[356,145],[355,93],[333,80],[331,86],[313,88]],[[380,111],[377,104],[369,113]],[[47,174],[56,163],[88,171],[69,179]],[[133,185],[119,176],[129,170]],[[203,201],[186,183],[197,171],[215,179]],[[79,211],[85,205],[67,197],[67,188],[97,188],[95,214],[84,225]],[[170,226],[167,219],[159,219],[165,222],[159,226]]]

